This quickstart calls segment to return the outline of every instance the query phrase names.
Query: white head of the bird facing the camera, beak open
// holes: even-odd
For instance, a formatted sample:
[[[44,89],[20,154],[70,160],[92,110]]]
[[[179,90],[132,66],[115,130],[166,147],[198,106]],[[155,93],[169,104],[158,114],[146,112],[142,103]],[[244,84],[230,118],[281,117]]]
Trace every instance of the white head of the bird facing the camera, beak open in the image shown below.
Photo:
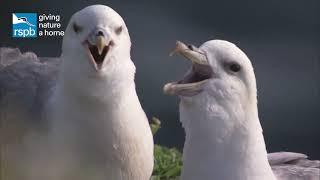
[[[131,41],[121,16],[108,6],[88,6],[75,13],[66,28],[62,55],[71,66],[81,64],[103,75],[119,62],[130,60]],[[90,66],[91,69],[88,69]]]

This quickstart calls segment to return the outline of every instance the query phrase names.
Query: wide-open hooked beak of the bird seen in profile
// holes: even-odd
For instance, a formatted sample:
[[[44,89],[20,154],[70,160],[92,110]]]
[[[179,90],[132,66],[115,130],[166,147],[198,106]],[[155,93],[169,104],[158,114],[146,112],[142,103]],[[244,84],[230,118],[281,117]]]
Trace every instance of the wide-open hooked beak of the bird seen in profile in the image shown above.
[[[204,52],[192,45],[177,41],[176,48],[170,53],[180,54],[192,62],[192,68],[184,78],[167,83],[163,91],[169,95],[194,96],[203,90],[204,84],[212,77],[212,69]]]

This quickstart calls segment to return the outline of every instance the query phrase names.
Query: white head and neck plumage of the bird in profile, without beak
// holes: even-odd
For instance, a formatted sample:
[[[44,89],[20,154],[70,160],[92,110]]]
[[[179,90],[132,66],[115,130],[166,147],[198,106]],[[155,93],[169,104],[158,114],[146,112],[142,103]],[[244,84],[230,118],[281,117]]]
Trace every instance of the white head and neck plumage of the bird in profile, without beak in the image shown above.
[[[181,98],[180,120],[186,131],[182,179],[274,180],[249,59],[226,41],[209,41],[200,50],[206,53],[214,78],[202,93]],[[226,69],[234,61],[242,66],[241,74]]]

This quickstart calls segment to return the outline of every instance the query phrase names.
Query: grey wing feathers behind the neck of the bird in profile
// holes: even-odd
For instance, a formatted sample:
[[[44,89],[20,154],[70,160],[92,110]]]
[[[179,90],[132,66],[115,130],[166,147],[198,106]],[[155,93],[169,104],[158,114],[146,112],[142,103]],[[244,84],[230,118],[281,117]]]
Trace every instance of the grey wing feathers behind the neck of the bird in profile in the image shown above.
[[[320,161],[307,158],[305,154],[292,152],[268,154],[269,163],[278,180],[319,180]]]

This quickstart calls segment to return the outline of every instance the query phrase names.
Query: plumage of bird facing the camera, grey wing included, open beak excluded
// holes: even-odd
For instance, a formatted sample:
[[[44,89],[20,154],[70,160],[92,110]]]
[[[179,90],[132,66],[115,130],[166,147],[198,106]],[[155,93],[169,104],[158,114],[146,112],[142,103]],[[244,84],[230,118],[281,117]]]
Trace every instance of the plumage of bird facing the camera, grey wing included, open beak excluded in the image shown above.
[[[97,44],[97,30],[103,32],[105,43],[109,43],[108,52],[99,68],[93,66],[97,61],[93,60],[93,53],[86,49],[85,44]],[[9,106],[14,109],[1,109],[1,124],[17,123],[21,128],[17,127],[19,131],[14,132],[23,129],[24,133],[16,140],[10,138],[11,134],[9,136],[5,133],[10,131],[11,125],[4,126],[5,131],[0,131],[5,137],[4,140],[0,139],[1,153],[3,152],[1,157],[3,154],[5,156],[0,161],[5,174],[1,174],[1,178],[150,178],[153,169],[153,138],[136,94],[135,66],[130,58],[130,48],[130,36],[121,16],[110,7],[93,5],[75,13],[69,21],[63,38],[57,80],[57,66],[49,67],[49,62],[38,62],[37,57],[35,63],[19,61],[16,67],[1,66],[3,78],[0,78],[0,82],[6,83],[2,87],[8,86],[13,92],[9,92],[8,87],[1,88],[1,97],[6,100],[2,100],[1,104],[15,105]],[[53,69],[54,73],[43,72]],[[26,86],[20,87],[4,78],[11,78],[13,82],[25,82]],[[42,82],[48,83],[44,84],[44,89],[40,86]],[[55,84],[53,88],[49,85],[52,82]],[[29,94],[22,93],[25,91]],[[19,97],[14,95],[22,97],[22,100],[16,100]],[[44,108],[37,106],[38,99]],[[11,103],[8,104],[7,101]],[[32,109],[29,110],[27,106]],[[37,116],[27,116],[29,114]],[[43,119],[39,120],[42,114]],[[39,124],[41,122],[39,131],[34,125],[37,123],[31,124],[29,119]],[[16,144],[11,145],[12,139]]]

